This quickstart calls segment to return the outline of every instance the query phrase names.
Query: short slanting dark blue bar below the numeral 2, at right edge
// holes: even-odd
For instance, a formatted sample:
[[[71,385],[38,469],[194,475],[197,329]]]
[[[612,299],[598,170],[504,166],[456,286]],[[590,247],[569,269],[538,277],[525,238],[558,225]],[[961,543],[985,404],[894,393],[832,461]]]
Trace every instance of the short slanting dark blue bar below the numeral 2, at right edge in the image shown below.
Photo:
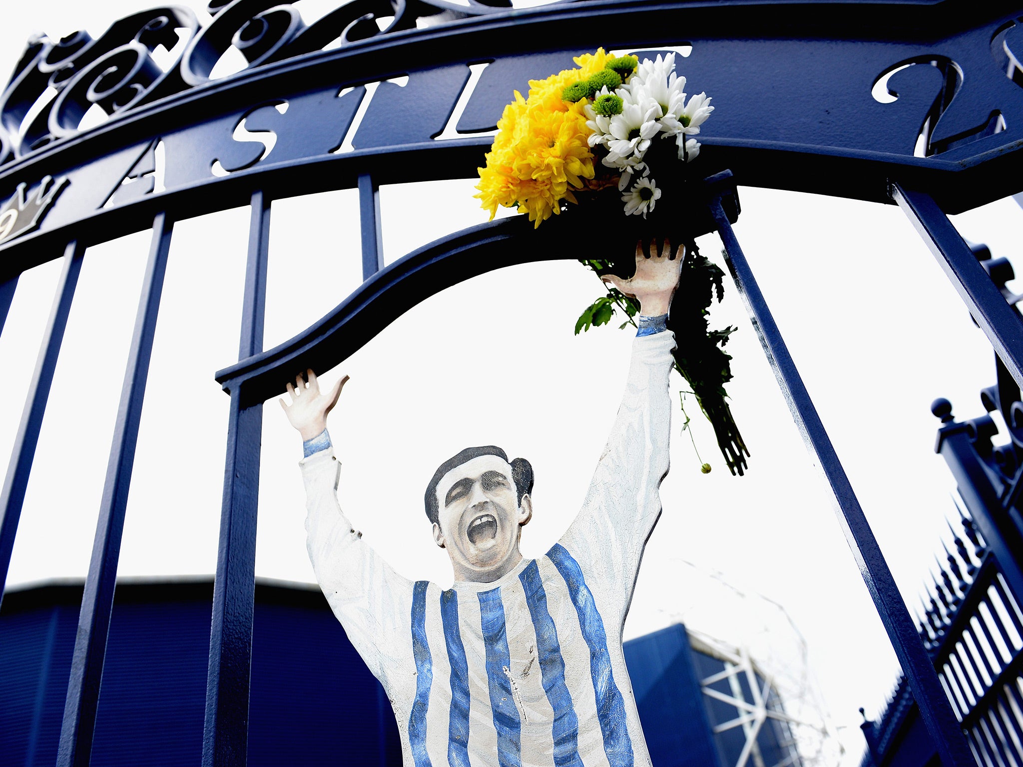
[[[1023,387],[1023,320],[1006,303],[990,275],[930,195],[893,184],[892,196],[931,249],[1017,385]]]

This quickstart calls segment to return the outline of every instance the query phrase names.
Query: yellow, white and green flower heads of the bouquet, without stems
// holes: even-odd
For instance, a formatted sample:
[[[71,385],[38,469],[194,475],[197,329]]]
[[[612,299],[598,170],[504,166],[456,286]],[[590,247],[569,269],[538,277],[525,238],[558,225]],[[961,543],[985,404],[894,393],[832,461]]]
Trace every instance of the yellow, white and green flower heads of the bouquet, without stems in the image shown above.
[[[686,101],[674,53],[640,63],[598,48],[575,61],[578,70],[530,81],[529,97],[516,91],[504,107],[476,195],[491,219],[498,206],[518,208],[539,226],[562,212],[563,200],[578,202],[576,191],[613,185],[624,192],[624,213],[646,218],[662,195],[652,170],[677,174],[672,160],[700,154],[692,136],[714,107],[706,93]],[[673,139],[665,144],[669,156],[651,151],[665,139]]]

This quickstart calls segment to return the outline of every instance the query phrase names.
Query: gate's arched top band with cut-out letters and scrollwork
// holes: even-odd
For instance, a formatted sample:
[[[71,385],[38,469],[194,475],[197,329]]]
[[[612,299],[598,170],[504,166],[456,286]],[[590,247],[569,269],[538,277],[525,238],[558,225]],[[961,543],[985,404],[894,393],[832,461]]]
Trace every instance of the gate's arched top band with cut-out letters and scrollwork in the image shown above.
[[[93,220],[127,233],[197,189],[216,210],[257,189],[355,187],[370,160],[380,184],[410,167],[420,180],[472,177],[511,92],[599,45],[681,52],[720,107],[708,171],[744,184],[887,201],[898,178],[948,212],[1018,191],[1023,4],[874,4],[890,31],[857,21],[824,39],[814,19],[834,4],[355,0],[306,25],[294,5],[234,0],[202,29],[168,6],[95,40],[34,39],[0,95],[0,199],[9,210],[20,184],[46,176],[72,192],[0,249]],[[686,37],[609,41],[623,14],[629,29]],[[568,39],[578,47],[544,47]],[[242,69],[218,77],[231,51]]]

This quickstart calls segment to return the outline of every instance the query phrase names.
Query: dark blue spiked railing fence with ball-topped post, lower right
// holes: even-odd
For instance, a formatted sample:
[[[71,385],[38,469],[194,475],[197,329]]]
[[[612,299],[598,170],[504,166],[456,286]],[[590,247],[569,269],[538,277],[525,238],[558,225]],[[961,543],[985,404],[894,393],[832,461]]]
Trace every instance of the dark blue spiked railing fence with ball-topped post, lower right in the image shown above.
[[[1018,398],[1019,390],[1011,379],[1010,385]],[[982,397],[989,410],[994,408],[992,389],[984,390]],[[945,424],[938,431],[938,450],[967,502],[969,514],[963,514],[959,522],[975,548],[971,554],[949,525],[951,546],[942,544],[947,569],[939,557],[941,576],[932,576],[922,598],[925,615],[920,622],[920,636],[978,764],[1019,764],[1023,759],[1023,720],[1019,717],[1023,695],[1018,684],[1023,651],[1014,636],[1023,631],[1016,612],[1023,594],[1013,586],[1019,580],[1018,572],[1002,572],[1003,560],[1018,571],[1020,557],[1015,552],[1005,556],[1011,548],[1007,546],[1010,541],[1004,538],[1005,528],[993,524],[990,508],[982,505],[993,502],[996,507],[1000,503],[999,493],[994,492],[996,480],[991,478],[988,466],[990,419],[981,416],[955,423],[951,405],[944,399],[936,400],[931,410]],[[1007,447],[995,449],[1006,451]],[[1007,469],[1006,473],[1012,475],[1011,466]],[[1005,515],[998,520],[1007,521]],[[983,529],[983,541],[976,535],[977,528]],[[933,763],[933,738],[918,713],[903,675],[878,722],[862,725],[874,765],[918,767]],[[864,760],[863,764],[870,762]]]

